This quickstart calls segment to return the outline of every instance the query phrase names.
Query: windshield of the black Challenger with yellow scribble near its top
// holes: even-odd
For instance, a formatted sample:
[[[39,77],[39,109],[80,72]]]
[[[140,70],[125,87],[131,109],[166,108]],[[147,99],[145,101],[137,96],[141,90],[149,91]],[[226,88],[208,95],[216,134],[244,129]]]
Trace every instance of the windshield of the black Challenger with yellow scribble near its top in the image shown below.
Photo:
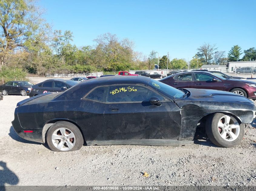
[[[178,98],[182,98],[185,93],[183,91],[180,91],[176,88],[173,88],[167,84],[164,84],[160,81],[156,81],[156,80],[153,80],[151,79],[148,84],[153,87],[154,89],[156,89],[157,91],[162,91],[164,92],[165,94],[168,94],[170,95],[171,97],[175,98],[175,99],[178,99]]]

